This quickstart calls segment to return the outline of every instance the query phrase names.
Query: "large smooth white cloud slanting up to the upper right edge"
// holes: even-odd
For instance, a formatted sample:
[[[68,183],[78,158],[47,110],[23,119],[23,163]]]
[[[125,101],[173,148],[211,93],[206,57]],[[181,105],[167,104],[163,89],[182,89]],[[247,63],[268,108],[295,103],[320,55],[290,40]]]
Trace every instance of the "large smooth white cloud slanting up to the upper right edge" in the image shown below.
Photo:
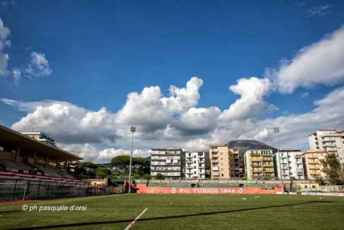
[[[266,75],[274,79],[282,93],[292,93],[298,87],[333,86],[344,82],[344,28],[303,47],[278,70],[267,69]]]

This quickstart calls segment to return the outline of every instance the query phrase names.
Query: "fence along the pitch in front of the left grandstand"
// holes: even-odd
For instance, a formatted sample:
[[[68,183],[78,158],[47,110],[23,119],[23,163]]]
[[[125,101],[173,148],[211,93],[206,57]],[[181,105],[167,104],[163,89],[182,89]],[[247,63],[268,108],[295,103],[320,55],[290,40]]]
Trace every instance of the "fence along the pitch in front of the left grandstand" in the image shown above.
[[[60,183],[44,181],[0,181],[0,201],[14,199],[40,199],[78,197],[124,193],[124,185],[90,186],[86,183]]]

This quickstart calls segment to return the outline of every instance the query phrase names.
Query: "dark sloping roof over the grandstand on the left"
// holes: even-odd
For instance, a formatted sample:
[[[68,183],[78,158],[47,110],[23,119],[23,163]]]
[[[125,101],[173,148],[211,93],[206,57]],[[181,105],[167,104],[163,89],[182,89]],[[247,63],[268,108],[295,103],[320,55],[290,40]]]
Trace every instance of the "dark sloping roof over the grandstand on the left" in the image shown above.
[[[20,146],[20,149],[25,152],[34,153],[36,151],[36,154],[39,155],[48,155],[51,158],[58,158],[60,161],[75,161],[83,159],[73,153],[45,144],[39,140],[27,137],[26,135],[0,125],[0,143],[1,142]]]

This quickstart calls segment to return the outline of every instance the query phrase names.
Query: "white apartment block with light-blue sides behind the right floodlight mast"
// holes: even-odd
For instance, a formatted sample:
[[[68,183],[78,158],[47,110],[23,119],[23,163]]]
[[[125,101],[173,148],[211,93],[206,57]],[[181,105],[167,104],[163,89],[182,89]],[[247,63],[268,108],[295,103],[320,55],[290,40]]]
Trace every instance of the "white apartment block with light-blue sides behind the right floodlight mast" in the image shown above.
[[[275,176],[281,178],[280,168],[282,169],[282,179],[304,180],[301,150],[280,150],[280,154],[273,157]],[[279,160],[281,158],[281,164]]]

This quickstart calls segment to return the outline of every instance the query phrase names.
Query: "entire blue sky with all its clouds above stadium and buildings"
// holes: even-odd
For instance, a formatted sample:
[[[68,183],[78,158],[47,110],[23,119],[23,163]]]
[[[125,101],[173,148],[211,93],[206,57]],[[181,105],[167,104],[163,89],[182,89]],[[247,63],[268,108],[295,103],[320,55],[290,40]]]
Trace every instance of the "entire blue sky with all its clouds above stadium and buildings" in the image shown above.
[[[344,130],[344,2],[0,0],[0,124],[93,162]]]

